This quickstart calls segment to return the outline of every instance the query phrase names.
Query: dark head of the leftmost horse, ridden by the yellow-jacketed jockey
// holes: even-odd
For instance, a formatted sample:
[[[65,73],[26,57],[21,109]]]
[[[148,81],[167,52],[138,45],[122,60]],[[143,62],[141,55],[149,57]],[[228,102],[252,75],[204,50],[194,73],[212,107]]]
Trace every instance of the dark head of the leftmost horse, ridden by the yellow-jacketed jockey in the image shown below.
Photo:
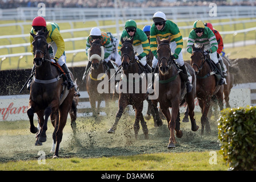
[[[49,35],[49,31],[44,32],[39,30],[37,35],[32,34],[34,40],[32,42],[33,46],[33,55],[34,55],[34,64],[40,66],[42,61],[45,59],[49,59],[49,52],[48,52],[48,44],[46,41],[47,36]]]

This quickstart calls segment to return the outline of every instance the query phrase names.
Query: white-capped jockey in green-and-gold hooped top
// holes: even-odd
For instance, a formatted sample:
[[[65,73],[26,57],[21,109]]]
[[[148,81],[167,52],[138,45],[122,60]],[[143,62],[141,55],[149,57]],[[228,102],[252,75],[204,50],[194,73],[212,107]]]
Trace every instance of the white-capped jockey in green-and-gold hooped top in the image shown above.
[[[152,61],[152,72],[154,72],[155,67],[157,67],[158,57],[157,57],[157,36],[160,39],[166,39],[169,36],[171,37],[170,48],[173,55],[171,55],[172,59],[175,59],[182,69],[182,72],[187,75],[187,69],[185,67],[183,56],[182,56],[182,47],[183,47],[183,39],[181,32],[179,32],[179,28],[177,24],[172,22],[171,20],[166,20],[166,15],[162,11],[157,11],[157,13],[153,16],[153,25],[150,28],[150,49],[154,54],[154,59]],[[187,77],[186,87],[187,93],[190,93],[193,85],[189,81]]]

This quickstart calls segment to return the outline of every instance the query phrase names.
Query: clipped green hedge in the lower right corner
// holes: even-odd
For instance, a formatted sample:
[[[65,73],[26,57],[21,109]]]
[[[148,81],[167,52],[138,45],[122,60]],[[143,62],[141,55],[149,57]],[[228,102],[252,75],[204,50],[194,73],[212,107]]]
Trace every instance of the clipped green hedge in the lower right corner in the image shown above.
[[[256,107],[224,109],[218,119],[221,154],[231,170],[256,170]]]

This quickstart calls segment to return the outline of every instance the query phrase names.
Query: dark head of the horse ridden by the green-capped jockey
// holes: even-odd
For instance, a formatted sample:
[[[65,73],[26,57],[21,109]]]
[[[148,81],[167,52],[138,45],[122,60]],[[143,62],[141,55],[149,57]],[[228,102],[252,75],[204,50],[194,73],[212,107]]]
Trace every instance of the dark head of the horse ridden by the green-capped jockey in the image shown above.
[[[130,64],[136,63],[133,49],[133,38],[121,38],[121,60],[123,70],[127,70]]]

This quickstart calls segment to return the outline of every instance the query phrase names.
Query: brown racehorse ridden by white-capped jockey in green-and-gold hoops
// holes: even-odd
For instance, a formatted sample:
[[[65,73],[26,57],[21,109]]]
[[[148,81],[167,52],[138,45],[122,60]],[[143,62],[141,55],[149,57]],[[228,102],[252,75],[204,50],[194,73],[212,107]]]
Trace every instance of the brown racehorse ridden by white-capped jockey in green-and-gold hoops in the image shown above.
[[[157,92],[156,86],[159,86],[158,102],[162,113],[165,115],[170,130],[170,139],[167,148],[175,147],[175,136],[182,137],[182,131],[180,130],[179,123],[179,106],[183,105],[186,101],[189,106],[189,116],[191,121],[191,130],[197,131],[198,126],[194,118],[194,98],[195,98],[195,72],[194,69],[185,63],[188,72],[192,76],[193,90],[190,93],[186,93],[185,81],[182,81],[183,73],[177,68],[174,60],[171,59],[170,49],[170,36],[168,39],[160,40],[157,37],[157,53],[158,53],[158,65],[159,65],[159,82],[155,81],[154,90]],[[185,80],[185,79],[184,79]],[[171,114],[169,107],[171,107]]]

